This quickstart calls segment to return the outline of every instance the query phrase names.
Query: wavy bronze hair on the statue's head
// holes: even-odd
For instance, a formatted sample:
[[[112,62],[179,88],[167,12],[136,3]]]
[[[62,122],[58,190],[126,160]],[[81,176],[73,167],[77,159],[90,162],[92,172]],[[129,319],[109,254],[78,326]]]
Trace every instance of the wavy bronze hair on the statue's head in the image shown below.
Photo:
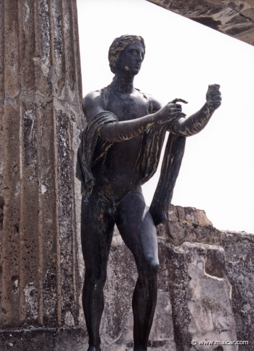
[[[109,67],[112,73],[115,73],[116,61],[119,59],[122,51],[128,45],[139,41],[142,42],[145,54],[145,41],[141,36],[126,34],[113,40],[112,44],[109,46]]]

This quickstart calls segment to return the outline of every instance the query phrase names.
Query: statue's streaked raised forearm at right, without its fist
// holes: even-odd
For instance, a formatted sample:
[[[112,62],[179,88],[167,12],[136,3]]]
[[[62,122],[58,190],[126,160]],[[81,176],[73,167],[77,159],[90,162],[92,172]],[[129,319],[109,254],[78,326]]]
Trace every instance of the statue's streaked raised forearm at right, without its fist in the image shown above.
[[[209,122],[215,109],[207,103],[200,111],[191,115],[188,118],[179,118],[170,126],[170,131],[182,137],[190,137],[199,133]]]

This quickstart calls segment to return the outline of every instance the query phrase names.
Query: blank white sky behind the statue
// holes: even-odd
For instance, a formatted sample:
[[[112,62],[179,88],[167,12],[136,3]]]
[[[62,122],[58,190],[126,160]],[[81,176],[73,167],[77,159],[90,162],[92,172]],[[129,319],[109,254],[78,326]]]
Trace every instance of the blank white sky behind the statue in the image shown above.
[[[134,86],[187,116],[221,86],[222,105],[205,129],[188,137],[172,203],[206,211],[218,229],[254,233],[254,47],[146,0],[77,0],[83,96],[113,77],[114,38],[141,35],[146,53]],[[143,186],[150,205],[159,173]]]

